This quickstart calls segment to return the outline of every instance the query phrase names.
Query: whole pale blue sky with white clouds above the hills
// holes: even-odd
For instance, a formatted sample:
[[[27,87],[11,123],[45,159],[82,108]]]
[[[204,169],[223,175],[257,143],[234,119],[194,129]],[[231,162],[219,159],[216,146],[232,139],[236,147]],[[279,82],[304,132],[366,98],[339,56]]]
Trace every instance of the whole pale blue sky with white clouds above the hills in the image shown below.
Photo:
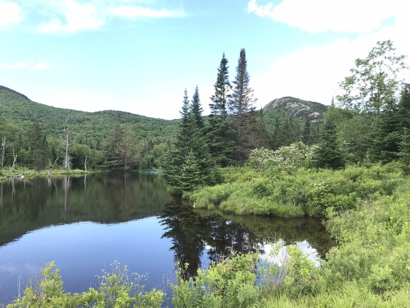
[[[408,0],[0,0],[0,85],[55,107],[179,118],[204,114],[225,52],[245,48],[260,108],[292,96],[330,104],[377,41],[410,55]]]

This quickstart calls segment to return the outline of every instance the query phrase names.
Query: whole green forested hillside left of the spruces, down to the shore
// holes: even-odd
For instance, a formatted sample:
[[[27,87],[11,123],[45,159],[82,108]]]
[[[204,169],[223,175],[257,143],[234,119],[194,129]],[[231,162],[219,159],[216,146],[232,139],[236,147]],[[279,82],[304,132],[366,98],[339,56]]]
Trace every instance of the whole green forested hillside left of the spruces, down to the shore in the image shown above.
[[[13,164],[14,146],[17,166],[36,169],[64,164],[67,133],[71,168],[84,169],[86,157],[91,168],[157,168],[176,123],[122,111],[55,108],[4,86],[0,110],[0,134],[5,138],[2,166]]]

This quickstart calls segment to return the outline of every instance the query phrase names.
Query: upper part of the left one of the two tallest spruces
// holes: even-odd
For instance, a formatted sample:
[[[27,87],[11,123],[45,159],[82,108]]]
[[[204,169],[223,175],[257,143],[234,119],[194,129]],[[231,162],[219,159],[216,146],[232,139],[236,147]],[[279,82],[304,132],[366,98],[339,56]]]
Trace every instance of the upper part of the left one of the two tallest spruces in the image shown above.
[[[214,84],[215,94],[211,97],[213,103],[209,104],[211,113],[217,115],[221,122],[226,119],[228,100],[231,98],[230,91],[232,90],[232,86],[229,82],[228,68],[228,59],[223,52]]]

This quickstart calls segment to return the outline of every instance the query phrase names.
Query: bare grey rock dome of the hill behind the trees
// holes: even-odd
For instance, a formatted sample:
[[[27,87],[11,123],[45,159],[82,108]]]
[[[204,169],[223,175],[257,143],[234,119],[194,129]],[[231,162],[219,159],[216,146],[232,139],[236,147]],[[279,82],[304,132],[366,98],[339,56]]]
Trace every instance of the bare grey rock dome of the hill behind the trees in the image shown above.
[[[263,107],[263,111],[282,108],[291,117],[299,119],[310,119],[312,122],[322,122],[323,113],[327,106],[310,101],[304,101],[292,97],[275,99]]]

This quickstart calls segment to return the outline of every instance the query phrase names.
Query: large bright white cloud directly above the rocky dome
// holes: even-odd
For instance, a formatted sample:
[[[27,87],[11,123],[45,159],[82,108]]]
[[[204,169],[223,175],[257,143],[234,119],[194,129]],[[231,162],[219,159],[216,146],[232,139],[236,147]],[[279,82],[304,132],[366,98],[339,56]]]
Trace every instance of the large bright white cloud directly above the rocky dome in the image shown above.
[[[410,56],[410,18],[407,17],[410,2],[389,4],[395,15],[392,25],[362,33],[353,39],[345,37],[319,46],[305,46],[280,59],[273,59],[267,71],[251,81],[259,99],[258,107],[284,96],[330,104],[332,96],[339,89],[338,83],[350,74],[355,59],[366,57],[377,41],[392,40],[397,54]]]

